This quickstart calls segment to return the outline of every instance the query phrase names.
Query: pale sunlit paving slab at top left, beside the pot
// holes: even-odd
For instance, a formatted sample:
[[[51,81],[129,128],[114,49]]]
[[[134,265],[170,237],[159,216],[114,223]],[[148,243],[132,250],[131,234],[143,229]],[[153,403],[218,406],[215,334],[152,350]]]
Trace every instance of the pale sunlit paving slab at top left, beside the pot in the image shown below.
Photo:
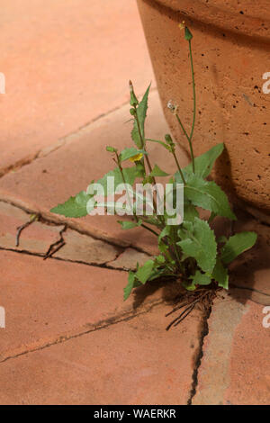
[[[135,0],[1,2],[0,175],[155,85]]]

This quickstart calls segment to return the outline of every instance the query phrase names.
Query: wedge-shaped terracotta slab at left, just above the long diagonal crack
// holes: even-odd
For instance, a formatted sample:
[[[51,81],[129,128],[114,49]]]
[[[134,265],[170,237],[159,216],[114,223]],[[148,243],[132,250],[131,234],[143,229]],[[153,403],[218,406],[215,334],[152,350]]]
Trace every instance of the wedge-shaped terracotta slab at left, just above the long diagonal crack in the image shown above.
[[[0,361],[148,310],[161,293],[123,302],[127,272],[0,250]],[[139,301],[138,301],[139,299]],[[136,300],[136,304],[135,304]]]

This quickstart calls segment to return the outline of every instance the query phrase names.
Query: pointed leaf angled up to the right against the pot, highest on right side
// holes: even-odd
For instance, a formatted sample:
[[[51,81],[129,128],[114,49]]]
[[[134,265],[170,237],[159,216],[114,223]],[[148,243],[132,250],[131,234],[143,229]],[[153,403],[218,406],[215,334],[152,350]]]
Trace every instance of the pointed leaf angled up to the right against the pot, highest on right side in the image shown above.
[[[211,169],[220,154],[224,149],[223,142],[217,144],[216,146],[212,147],[206,153],[203,153],[202,156],[195,157],[195,174],[198,176],[202,176],[203,178],[207,177],[211,174]],[[179,173],[179,172],[178,172]],[[184,167],[183,169],[184,175],[190,175],[193,173],[192,164]],[[180,176],[180,175],[179,175]],[[178,176],[177,176],[178,177]]]

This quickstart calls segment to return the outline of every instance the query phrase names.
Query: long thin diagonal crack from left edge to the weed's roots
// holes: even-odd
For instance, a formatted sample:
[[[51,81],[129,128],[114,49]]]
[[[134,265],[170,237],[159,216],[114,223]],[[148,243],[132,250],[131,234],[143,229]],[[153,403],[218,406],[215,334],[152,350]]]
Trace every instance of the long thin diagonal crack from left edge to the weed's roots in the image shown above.
[[[14,358],[17,358],[17,357],[20,357],[20,356],[26,356],[27,354],[34,353],[36,351],[40,351],[42,349],[52,347],[54,345],[63,344],[65,342],[69,341],[70,339],[75,339],[75,338],[83,337],[85,335],[88,335],[89,333],[95,332],[97,330],[109,328],[109,327],[111,327],[113,325],[116,325],[118,323],[121,323],[123,321],[129,321],[129,320],[135,319],[138,316],[141,316],[143,314],[147,314],[154,307],[156,307],[157,305],[162,304],[162,302],[163,302],[163,300],[158,300],[156,302],[148,303],[145,306],[147,308],[147,310],[139,311],[137,313],[134,313],[134,312],[132,313],[130,311],[127,311],[127,312],[125,312],[125,313],[123,313],[123,314],[121,314],[119,316],[114,316],[114,317],[112,317],[110,319],[101,320],[100,322],[97,322],[96,324],[92,324],[91,325],[93,327],[92,329],[84,330],[84,331],[81,331],[79,333],[76,333],[76,334],[70,335],[70,336],[68,336],[68,335],[66,335],[66,336],[59,336],[56,340],[51,341],[51,342],[49,342],[49,343],[47,343],[47,344],[45,344],[43,346],[25,350],[22,353],[16,354],[14,356],[7,356],[3,360],[0,360],[0,365],[2,365],[3,363],[5,363],[8,360],[11,360],[11,359],[14,359]]]

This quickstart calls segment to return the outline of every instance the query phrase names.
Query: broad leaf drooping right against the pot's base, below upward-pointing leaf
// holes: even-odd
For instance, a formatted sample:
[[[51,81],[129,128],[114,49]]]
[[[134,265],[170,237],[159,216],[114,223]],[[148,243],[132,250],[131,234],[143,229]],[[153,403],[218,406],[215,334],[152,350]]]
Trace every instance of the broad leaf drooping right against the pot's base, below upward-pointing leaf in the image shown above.
[[[230,210],[227,195],[213,181],[205,181],[198,175],[189,175],[184,185],[184,196],[197,207],[236,220],[235,214]]]

